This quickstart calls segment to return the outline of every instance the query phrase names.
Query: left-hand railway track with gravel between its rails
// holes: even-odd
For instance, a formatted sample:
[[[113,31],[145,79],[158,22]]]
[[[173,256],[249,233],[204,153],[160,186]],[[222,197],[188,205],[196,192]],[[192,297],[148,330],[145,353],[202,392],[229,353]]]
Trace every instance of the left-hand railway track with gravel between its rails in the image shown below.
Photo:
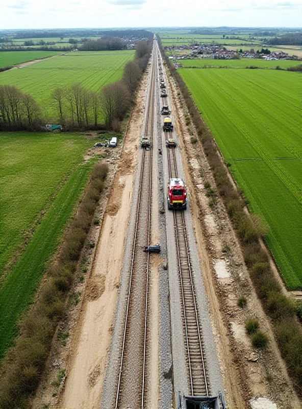
[[[151,143],[154,101],[155,60],[144,130],[144,136]],[[143,149],[115,409],[143,408],[146,396],[149,253],[144,253],[142,247],[150,244],[151,198],[152,149]]]

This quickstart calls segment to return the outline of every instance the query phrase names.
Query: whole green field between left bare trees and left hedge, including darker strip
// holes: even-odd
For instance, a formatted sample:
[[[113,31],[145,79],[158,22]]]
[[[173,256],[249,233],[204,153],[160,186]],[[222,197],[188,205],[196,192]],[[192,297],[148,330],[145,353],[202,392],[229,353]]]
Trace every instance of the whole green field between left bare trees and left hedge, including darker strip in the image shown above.
[[[0,136],[0,357],[86,185],[92,162],[83,157],[93,143],[72,133]]]

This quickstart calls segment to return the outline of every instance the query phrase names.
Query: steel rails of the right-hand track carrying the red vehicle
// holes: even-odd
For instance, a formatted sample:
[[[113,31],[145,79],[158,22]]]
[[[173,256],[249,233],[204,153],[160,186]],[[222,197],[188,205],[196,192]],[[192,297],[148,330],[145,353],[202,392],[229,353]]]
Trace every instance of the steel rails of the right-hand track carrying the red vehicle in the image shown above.
[[[169,148],[168,149],[168,164],[169,164],[169,175],[170,175],[170,177],[171,178],[172,177],[178,177],[178,170],[177,170],[177,163],[176,163],[174,148]],[[174,169],[173,169],[173,167],[174,167]],[[205,388],[206,388],[206,394],[208,396],[209,395],[209,389],[208,389],[208,382],[207,382],[207,375],[206,375],[206,365],[205,365],[205,358],[204,358],[204,352],[203,352],[203,346],[202,346],[202,336],[201,336],[200,328],[199,328],[198,308],[197,308],[196,299],[195,299],[194,283],[193,283],[193,276],[192,276],[192,266],[191,266],[191,260],[190,260],[189,245],[188,245],[188,240],[187,240],[185,218],[184,218],[184,213],[179,212],[179,213],[181,213],[181,222],[182,222],[182,225],[180,225],[179,221],[177,220],[176,212],[177,211],[173,210],[174,226],[175,226],[175,241],[177,243],[178,265],[179,265],[179,271],[180,271],[182,305],[183,305],[183,313],[184,313],[185,336],[186,336],[186,345],[187,345],[188,362],[189,362],[189,377],[190,377],[191,393],[192,393],[192,396],[195,395],[195,393],[194,393],[195,392],[194,391],[194,379],[193,379],[193,374],[192,374],[192,372],[193,372],[192,371],[192,359],[191,359],[190,347],[189,347],[190,339],[189,339],[188,321],[187,321],[187,313],[186,313],[186,296],[185,296],[184,282],[183,282],[183,268],[182,268],[182,265],[181,265],[179,230],[182,231],[183,239],[184,239],[185,246],[186,246],[186,260],[185,260],[185,262],[187,263],[188,269],[189,269],[189,277],[190,277],[190,285],[191,285],[191,296],[192,296],[193,303],[194,303],[194,312],[195,312],[195,321],[196,321],[196,328],[197,328],[197,334],[198,334],[199,352],[200,352],[200,357],[202,358],[204,383],[205,383]]]

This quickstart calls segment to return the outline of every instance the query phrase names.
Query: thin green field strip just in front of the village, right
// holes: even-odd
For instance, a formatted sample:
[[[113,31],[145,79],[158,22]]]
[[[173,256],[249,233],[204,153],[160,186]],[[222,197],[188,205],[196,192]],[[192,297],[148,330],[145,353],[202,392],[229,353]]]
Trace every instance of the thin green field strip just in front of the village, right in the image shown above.
[[[204,67],[204,68],[245,68],[247,66],[257,66],[259,68],[275,69],[276,66],[280,66],[284,69],[299,65],[301,61],[291,61],[291,60],[261,60],[258,58],[241,58],[240,60],[215,60],[212,58],[194,58],[194,59],[184,59],[180,61],[181,64],[186,67]]]

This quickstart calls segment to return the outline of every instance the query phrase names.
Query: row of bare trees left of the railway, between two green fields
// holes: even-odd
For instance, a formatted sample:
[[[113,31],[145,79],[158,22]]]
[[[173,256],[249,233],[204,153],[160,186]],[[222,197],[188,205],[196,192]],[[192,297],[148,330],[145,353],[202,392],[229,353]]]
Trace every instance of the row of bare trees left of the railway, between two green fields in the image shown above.
[[[124,66],[122,79],[92,92],[77,83],[53,90],[52,100],[58,120],[65,129],[98,128],[99,120],[106,128],[118,131],[129,111],[134,95],[146,69],[151,44],[139,41],[136,59]],[[45,124],[35,99],[15,86],[0,85],[0,130],[40,129]]]

